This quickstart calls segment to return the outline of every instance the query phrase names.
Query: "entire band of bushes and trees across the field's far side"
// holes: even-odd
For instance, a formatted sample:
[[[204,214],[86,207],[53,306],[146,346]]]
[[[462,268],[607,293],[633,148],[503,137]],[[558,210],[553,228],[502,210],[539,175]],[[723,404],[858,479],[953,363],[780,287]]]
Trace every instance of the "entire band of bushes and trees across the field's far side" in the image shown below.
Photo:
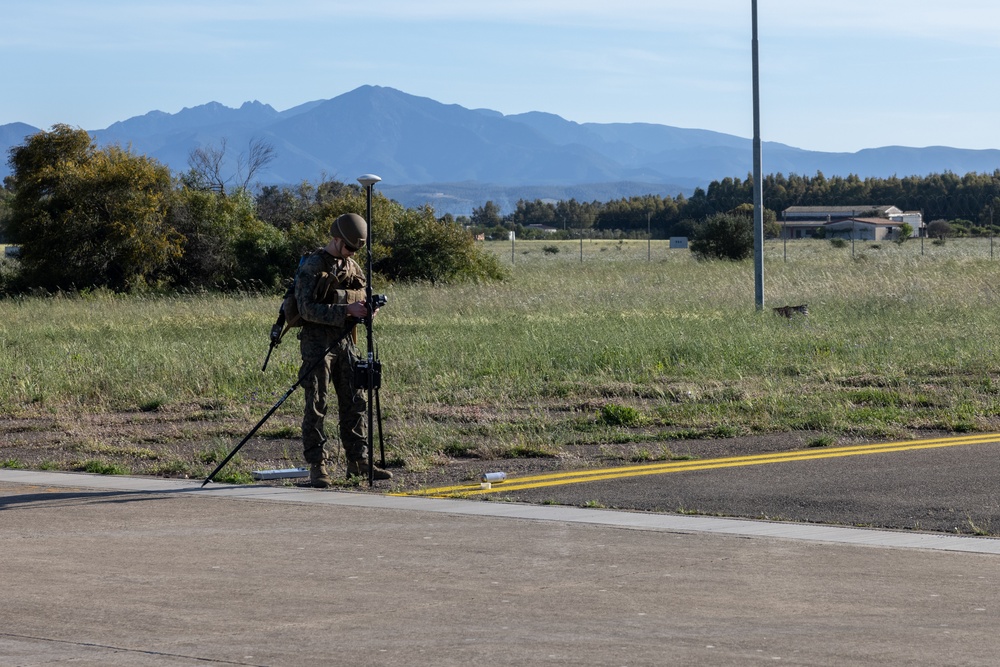
[[[304,182],[251,191],[255,171],[273,159],[264,143],[251,143],[249,153],[235,159],[236,176],[227,178],[230,157],[225,143],[198,148],[190,169],[173,174],[127,149],[99,149],[85,131],[69,126],[29,137],[11,149],[12,175],[0,190],[0,241],[20,246],[16,262],[0,262],[0,293],[277,290],[303,253],[326,244],[331,220],[365,213],[357,184]],[[794,205],[893,205],[921,211],[925,221],[951,234],[998,231],[993,212],[1000,211],[1000,169],[961,177],[774,174],[765,177],[763,192],[765,233],[771,235],[779,230],[781,211]],[[458,219],[438,217],[430,206],[404,208],[376,193],[373,258],[375,270],[389,280],[498,279],[505,270],[475,244],[476,236],[506,238],[515,231],[522,238],[731,239],[736,231],[746,236],[752,201],[749,176],[713,181],[690,197],[522,200],[506,215],[488,201]],[[739,259],[745,253],[724,254]]]

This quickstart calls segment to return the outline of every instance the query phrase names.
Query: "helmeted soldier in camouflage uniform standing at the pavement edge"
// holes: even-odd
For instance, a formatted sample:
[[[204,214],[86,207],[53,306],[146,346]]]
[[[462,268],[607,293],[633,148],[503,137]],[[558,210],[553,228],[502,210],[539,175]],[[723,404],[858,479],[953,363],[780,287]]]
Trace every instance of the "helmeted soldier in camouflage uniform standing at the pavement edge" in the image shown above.
[[[368,225],[360,215],[348,213],[334,220],[330,235],[330,243],[307,256],[295,274],[295,300],[305,320],[299,332],[299,377],[306,403],[302,449],[310,464],[309,481],[317,488],[331,485],[324,430],[331,384],[337,395],[347,475],[368,474],[368,405],[362,389],[354,386],[357,352],[352,335],[347,333],[368,315],[365,276],[351,258],[365,244]],[[375,479],[391,477],[392,473],[375,468]]]

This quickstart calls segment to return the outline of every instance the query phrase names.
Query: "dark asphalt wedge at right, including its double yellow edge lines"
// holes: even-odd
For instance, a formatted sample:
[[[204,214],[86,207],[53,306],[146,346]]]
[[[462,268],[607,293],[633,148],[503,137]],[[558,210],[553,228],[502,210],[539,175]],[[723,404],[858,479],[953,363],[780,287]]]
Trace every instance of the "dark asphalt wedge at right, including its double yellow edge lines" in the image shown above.
[[[1000,534],[1000,434],[508,479],[424,493],[533,504]]]

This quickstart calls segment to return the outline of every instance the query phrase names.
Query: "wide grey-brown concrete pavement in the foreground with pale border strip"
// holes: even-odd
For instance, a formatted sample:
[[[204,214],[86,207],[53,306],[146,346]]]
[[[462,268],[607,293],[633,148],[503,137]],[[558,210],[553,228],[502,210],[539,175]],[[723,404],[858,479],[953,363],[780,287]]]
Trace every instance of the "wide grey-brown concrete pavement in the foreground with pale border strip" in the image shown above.
[[[1000,540],[980,537],[0,470],[0,554],[4,667],[1000,651]]]

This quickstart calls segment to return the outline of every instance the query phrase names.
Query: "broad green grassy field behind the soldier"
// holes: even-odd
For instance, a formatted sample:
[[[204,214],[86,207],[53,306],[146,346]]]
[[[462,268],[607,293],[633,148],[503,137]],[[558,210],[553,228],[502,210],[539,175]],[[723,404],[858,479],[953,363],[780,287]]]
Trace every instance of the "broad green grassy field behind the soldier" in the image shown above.
[[[994,260],[989,244],[770,241],[763,311],[752,262],[696,262],[662,241],[584,241],[582,260],[579,241],[497,242],[490,250],[513,260],[503,283],[377,282],[389,297],[376,321],[389,456],[425,470],[586,445],[652,460],[700,438],[996,429],[1000,247]],[[771,311],[801,303],[806,317]],[[0,446],[0,463],[210,469],[295,380],[291,338],[260,369],[277,304],[0,300],[0,428],[23,445]],[[301,407],[297,392],[265,431],[289,460]],[[137,443],[138,427],[118,437],[82,426],[110,415],[148,432]],[[181,453],[196,424],[199,449]],[[30,437],[41,432],[50,437]],[[32,456],[32,442],[45,452]]]

